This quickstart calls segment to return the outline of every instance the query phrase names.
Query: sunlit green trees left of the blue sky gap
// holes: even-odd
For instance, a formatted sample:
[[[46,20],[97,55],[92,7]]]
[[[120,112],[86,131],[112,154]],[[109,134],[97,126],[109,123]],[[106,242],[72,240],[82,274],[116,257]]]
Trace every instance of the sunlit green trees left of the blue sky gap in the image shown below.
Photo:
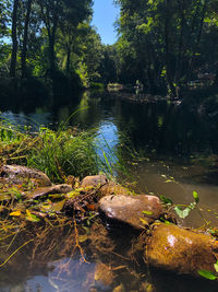
[[[16,9],[12,13],[14,3]],[[71,90],[99,82],[104,46],[90,26],[92,5],[92,0],[1,1],[0,75],[25,79],[27,85],[34,83],[33,77],[43,78],[56,96],[60,95],[60,86],[69,95]],[[4,89],[4,83],[1,80],[0,91],[5,97],[14,92],[26,97],[26,86],[22,86],[21,92],[15,87],[10,91]],[[29,96],[36,94],[44,98],[44,90],[41,94],[35,86],[29,89]]]

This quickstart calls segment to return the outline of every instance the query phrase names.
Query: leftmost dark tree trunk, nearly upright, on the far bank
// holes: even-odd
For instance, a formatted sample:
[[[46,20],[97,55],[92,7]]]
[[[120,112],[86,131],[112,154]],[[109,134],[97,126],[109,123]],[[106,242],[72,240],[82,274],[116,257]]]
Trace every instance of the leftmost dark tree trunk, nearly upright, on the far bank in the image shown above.
[[[17,9],[19,0],[13,2],[12,12],[12,54],[11,54],[11,66],[10,66],[10,77],[14,78],[16,72],[16,55],[17,55],[17,38],[16,38],[16,26],[17,26]]]

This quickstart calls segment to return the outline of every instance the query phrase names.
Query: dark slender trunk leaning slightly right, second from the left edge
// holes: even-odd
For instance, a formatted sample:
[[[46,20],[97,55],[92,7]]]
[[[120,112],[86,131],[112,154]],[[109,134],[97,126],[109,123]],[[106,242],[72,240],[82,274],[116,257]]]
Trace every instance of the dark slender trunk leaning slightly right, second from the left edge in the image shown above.
[[[29,17],[31,17],[32,1],[33,0],[28,0],[27,2],[26,19],[25,19],[25,26],[24,26],[24,40],[23,40],[23,49],[22,49],[22,78],[26,77],[26,52],[27,52],[27,43],[28,43],[28,24],[29,24]]]

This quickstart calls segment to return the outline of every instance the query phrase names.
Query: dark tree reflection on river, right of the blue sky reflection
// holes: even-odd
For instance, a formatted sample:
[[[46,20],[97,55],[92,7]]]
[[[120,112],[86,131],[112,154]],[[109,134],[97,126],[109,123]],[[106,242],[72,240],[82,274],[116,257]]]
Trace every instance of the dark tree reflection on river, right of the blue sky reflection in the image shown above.
[[[122,117],[116,119],[119,131],[128,132],[136,149],[182,156],[218,151],[211,121],[167,101],[134,106],[121,102],[117,116]]]

